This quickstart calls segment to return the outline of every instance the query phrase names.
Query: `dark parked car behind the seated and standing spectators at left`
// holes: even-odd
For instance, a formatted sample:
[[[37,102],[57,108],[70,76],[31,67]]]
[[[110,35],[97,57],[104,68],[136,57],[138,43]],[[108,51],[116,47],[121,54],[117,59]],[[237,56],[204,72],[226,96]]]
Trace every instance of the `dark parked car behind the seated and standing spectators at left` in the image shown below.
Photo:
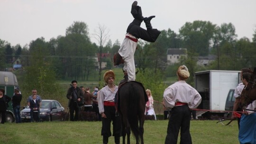
[[[42,100],[40,107],[40,121],[62,121],[62,113],[64,108],[56,100]],[[30,121],[30,108],[27,105],[23,110],[20,111],[21,120],[26,122]]]

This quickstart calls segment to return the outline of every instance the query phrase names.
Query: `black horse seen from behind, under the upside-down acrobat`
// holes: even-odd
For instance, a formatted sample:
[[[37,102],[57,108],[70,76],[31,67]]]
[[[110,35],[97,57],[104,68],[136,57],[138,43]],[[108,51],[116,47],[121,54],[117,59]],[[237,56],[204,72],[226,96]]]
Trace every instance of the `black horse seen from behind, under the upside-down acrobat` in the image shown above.
[[[129,81],[119,86],[118,109],[122,117],[123,144],[127,134],[127,144],[130,144],[131,131],[136,137],[136,144],[144,144],[145,108],[148,98],[144,86],[137,81]]]

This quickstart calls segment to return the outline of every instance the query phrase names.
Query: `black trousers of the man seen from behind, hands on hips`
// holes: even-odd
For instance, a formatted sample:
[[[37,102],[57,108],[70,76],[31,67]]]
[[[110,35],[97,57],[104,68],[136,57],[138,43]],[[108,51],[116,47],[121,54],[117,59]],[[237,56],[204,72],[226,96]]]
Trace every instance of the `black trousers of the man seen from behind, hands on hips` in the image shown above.
[[[181,130],[180,144],[192,144],[190,135],[191,112],[188,105],[172,108],[172,115],[169,118],[165,144],[177,144],[179,131]]]

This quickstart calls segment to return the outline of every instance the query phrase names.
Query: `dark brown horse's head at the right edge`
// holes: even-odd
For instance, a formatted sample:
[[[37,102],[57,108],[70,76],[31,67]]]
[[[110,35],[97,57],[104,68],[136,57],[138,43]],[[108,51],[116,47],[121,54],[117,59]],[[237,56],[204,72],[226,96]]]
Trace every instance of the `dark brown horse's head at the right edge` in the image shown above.
[[[241,108],[245,109],[247,105],[252,103],[254,100],[256,100],[256,68],[254,68],[247,86],[241,93],[239,105]]]

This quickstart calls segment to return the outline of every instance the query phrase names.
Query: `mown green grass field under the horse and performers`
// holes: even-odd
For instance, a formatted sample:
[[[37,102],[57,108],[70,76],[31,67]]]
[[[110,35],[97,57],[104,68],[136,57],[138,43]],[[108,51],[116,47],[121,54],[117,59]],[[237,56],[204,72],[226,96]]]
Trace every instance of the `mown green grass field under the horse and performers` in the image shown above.
[[[230,126],[216,122],[191,121],[192,143],[239,144],[237,121]],[[164,144],[167,125],[168,120],[145,121],[145,144]],[[102,144],[101,122],[5,123],[0,125],[0,134],[0,144]],[[113,137],[109,144],[114,144]],[[133,136],[131,144],[135,144]]]

